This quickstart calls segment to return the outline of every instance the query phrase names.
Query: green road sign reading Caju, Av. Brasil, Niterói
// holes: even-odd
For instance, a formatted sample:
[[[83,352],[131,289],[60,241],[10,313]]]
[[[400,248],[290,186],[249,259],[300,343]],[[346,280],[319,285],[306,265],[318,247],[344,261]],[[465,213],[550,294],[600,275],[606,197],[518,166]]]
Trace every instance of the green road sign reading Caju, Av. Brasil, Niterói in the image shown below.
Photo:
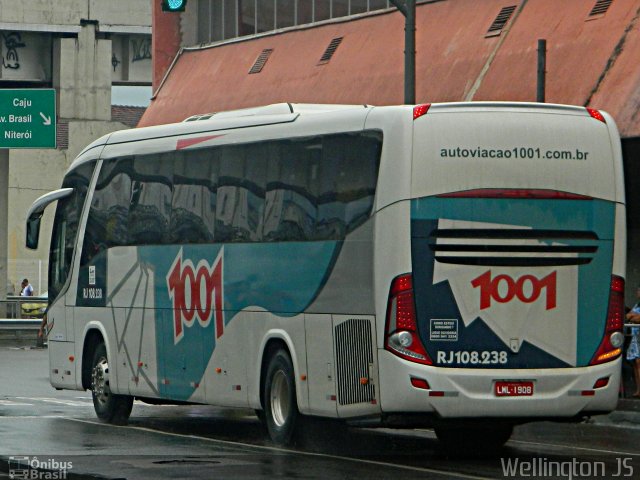
[[[0,148],[56,148],[56,91],[0,89]]]

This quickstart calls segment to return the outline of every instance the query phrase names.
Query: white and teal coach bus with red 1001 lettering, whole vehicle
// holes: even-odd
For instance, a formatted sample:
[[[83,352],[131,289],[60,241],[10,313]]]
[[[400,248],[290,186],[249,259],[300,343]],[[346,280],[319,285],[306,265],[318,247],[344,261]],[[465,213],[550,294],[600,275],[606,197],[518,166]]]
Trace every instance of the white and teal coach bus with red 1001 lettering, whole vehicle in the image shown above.
[[[625,204],[613,119],[526,103],[277,104],[115,132],[57,200],[50,379],[126,423],[134,398],[514,425],[615,408]]]

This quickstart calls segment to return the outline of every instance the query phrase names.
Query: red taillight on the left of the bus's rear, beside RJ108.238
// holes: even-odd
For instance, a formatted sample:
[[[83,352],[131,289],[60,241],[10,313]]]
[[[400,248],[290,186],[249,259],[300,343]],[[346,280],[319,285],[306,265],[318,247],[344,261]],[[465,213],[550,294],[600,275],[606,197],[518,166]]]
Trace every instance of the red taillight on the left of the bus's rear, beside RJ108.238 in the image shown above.
[[[418,334],[411,274],[400,275],[391,282],[385,332],[385,349],[391,353],[412,362],[433,363]]]

